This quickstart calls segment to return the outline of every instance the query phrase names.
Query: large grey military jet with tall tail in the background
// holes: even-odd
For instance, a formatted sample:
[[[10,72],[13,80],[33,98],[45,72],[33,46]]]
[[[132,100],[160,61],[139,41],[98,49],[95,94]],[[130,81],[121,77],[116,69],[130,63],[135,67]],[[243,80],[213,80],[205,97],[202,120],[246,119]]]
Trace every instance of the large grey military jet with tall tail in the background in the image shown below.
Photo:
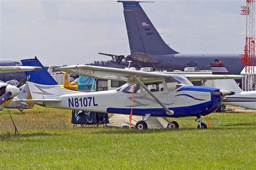
[[[124,17],[129,38],[131,55],[111,56],[111,62],[128,65],[132,61],[134,67],[153,67],[156,70],[184,70],[185,67],[198,67],[210,70],[209,63],[221,60],[231,74],[240,74],[244,65],[239,62],[239,54],[183,54],[173,50],[160,37],[156,28],[140,6],[139,1],[118,1],[123,3]],[[242,51],[241,51],[242,52]]]

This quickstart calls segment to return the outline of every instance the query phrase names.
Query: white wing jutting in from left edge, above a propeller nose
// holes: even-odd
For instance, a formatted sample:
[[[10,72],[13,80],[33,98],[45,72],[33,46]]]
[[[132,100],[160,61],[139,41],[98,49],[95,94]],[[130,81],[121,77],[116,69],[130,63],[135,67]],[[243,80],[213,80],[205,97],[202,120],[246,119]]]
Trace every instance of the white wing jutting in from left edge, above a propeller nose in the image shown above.
[[[0,73],[21,72],[21,71],[36,71],[42,67],[32,66],[0,66]]]

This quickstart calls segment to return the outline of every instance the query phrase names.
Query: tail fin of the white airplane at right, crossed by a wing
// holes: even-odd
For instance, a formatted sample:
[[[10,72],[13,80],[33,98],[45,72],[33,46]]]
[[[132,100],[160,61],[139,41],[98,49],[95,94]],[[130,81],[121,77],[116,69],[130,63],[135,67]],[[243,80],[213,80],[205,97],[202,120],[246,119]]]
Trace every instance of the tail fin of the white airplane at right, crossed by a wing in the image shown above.
[[[210,64],[210,67],[212,69],[212,74],[229,74],[222,62]],[[242,92],[234,79],[214,80],[214,85],[221,90]]]

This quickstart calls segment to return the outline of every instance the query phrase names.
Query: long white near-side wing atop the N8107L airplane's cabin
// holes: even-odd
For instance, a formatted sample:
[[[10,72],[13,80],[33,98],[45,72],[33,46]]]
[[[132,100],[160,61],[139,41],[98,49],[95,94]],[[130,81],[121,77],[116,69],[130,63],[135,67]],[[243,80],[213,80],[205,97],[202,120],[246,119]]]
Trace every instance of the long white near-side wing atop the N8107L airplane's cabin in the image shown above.
[[[65,71],[80,76],[87,76],[98,79],[116,80],[116,81],[134,81],[139,78],[142,82],[156,82],[169,77],[169,74],[144,72],[138,70],[116,69],[110,67],[99,67],[91,65],[75,65],[59,67],[58,70]]]

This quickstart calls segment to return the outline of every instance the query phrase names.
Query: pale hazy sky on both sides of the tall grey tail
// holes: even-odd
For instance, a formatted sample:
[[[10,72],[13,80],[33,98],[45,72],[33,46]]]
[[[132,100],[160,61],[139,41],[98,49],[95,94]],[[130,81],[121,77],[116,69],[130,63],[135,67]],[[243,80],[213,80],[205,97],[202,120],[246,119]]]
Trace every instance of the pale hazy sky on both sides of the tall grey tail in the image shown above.
[[[235,0],[141,3],[161,37],[180,53],[243,53],[245,17]],[[37,56],[43,65],[130,55],[122,3],[0,0],[0,58]]]

